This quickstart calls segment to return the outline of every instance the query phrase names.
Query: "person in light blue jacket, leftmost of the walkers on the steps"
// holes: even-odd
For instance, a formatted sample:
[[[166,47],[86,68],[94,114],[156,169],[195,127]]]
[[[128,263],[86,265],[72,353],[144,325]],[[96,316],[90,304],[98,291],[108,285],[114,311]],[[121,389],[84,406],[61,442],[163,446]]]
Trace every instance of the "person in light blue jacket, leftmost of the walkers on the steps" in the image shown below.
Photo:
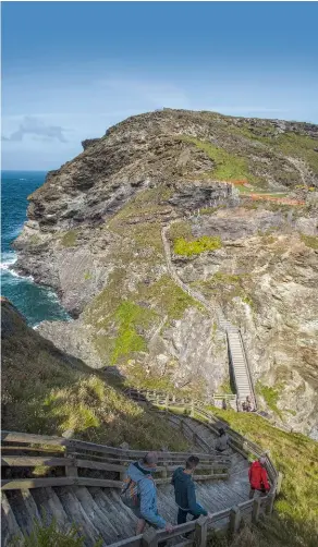
[[[127,488],[134,485],[137,496],[136,503],[130,506],[138,518],[136,535],[143,534],[146,523],[167,532],[173,531],[173,526],[160,516],[157,509],[157,488],[152,477],[157,464],[157,452],[149,452],[143,460],[131,463],[127,469]]]

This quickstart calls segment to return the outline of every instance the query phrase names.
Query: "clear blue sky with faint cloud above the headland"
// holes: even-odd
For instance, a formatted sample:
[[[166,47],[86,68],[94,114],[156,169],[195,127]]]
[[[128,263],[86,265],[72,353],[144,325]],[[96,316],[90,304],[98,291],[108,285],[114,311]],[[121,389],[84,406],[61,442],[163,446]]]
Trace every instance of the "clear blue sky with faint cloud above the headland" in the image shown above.
[[[2,3],[2,168],[161,107],[318,123],[316,2]]]

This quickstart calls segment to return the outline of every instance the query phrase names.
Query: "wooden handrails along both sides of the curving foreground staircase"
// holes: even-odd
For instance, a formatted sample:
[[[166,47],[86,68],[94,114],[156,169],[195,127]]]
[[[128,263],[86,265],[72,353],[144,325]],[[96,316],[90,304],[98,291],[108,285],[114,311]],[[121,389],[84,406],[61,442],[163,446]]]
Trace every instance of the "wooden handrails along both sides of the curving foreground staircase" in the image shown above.
[[[158,404],[158,401],[160,405],[160,396],[158,396],[158,393],[156,392],[149,393],[148,391],[147,396],[148,400],[152,401],[155,405]],[[168,412],[168,416],[173,415],[174,420],[180,420],[180,421],[183,420],[182,415],[169,413],[169,409],[171,408],[171,405],[169,398],[167,401],[167,396],[164,397],[164,405],[166,405],[166,412]],[[205,404],[203,402],[193,400],[187,400],[187,401],[176,400],[176,398],[173,398],[172,410],[173,405],[179,405],[179,406],[181,405],[182,409],[191,411],[192,420],[194,422],[205,423],[205,425],[215,433],[218,430],[218,427],[220,425],[224,425],[229,433],[230,445],[235,451],[242,453],[243,455],[246,457],[248,452],[250,452],[252,454],[259,458],[259,455],[264,453],[264,451],[257,445],[249,441],[242,435],[237,434],[232,428],[228,427],[225,423],[222,423],[221,420],[219,420],[217,416],[215,416],[210,411],[208,411],[205,408]],[[197,435],[195,430],[191,426],[188,426],[188,424],[183,423],[183,426],[187,428],[187,430],[191,434]],[[51,455],[42,455],[42,457],[4,455],[2,457],[1,461],[1,464],[4,466],[35,466],[41,464],[47,466],[61,465],[64,466],[65,470],[69,469],[69,473],[66,472],[66,476],[64,477],[4,479],[1,481],[1,489],[3,490],[38,488],[47,486],[71,486],[71,485],[95,486],[103,488],[121,488],[122,485],[121,479],[113,481],[107,478],[90,478],[82,476],[78,477],[76,467],[87,467],[93,470],[97,469],[103,471],[118,472],[122,474],[123,471],[125,471],[126,465],[121,465],[120,464],[121,461],[124,461],[126,463],[127,460],[130,461],[132,458],[140,458],[146,453],[146,451],[107,447],[105,445],[95,445],[91,442],[81,441],[76,439],[64,439],[59,437],[49,437],[49,436],[23,434],[15,431],[2,431],[1,437],[5,443],[9,443],[5,448],[10,448],[11,442],[20,442],[22,445],[25,443],[25,447],[20,446],[20,449],[25,451],[27,451],[28,449],[34,450],[35,449],[34,445],[39,445],[39,446],[48,445],[52,447],[59,447],[59,450],[61,448],[66,449],[65,458],[51,457]],[[32,447],[28,447],[27,445],[32,445]],[[210,449],[209,445],[208,443],[206,445]],[[12,448],[14,449],[14,446]],[[40,451],[40,447],[36,448],[35,450]],[[47,447],[45,447],[45,450],[48,450]],[[77,452],[76,450],[80,450],[80,452]],[[81,452],[81,450],[83,450],[84,452]],[[88,460],[85,458],[87,457],[87,454],[85,454],[85,451],[98,452],[99,454],[100,453],[105,454],[102,455],[103,460],[102,461]],[[119,464],[109,463],[105,461],[109,455],[112,457],[111,458],[112,461],[115,462],[119,461]],[[171,462],[171,463],[167,465],[159,464],[157,471],[159,473],[160,472],[162,473],[162,477],[156,478],[155,482],[157,484],[163,484],[170,482],[170,477],[167,476],[168,472],[172,472],[175,469],[176,464],[180,463],[180,460],[184,461],[184,459],[186,459],[187,455],[189,455],[189,452],[188,453],[160,452],[159,453],[160,463],[164,462]],[[223,471],[224,470],[228,471],[230,462],[229,459],[224,459],[224,457],[222,455],[216,455],[215,453],[212,454],[198,453],[197,455],[201,458],[201,463],[198,466],[198,469],[205,470],[209,467],[212,471],[215,470],[221,471],[222,473],[218,474],[213,473],[210,475],[203,475],[203,474],[196,475],[195,476],[196,481],[200,479],[205,481],[211,478],[227,478],[228,473],[223,473]],[[93,453],[91,458],[94,457],[97,458],[97,455]],[[100,455],[98,458],[101,459]],[[118,458],[118,460],[115,460],[115,458]],[[173,465],[173,463],[175,465]],[[216,524],[218,524],[218,527],[221,526],[228,528],[230,535],[235,534],[235,532],[238,530],[243,515],[245,515],[246,513],[252,514],[253,522],[257,522],[257,520],[259,519],[259,514],[261,512],[270,514],[272,511],[274,496],[277,493],[279,493],[282,475],[277,472],[268,454],[266,455],[266,465],[272,484],[271,491],[266,497],[259,499],[246,500],[242,503],[238,503],[238,506],[235,506],[233,508],[227,508],[222,511],[213,513],[208,518],[200,518],[197,521],[191,521],[180,526],[175,526],[171,534],[166,531],[152,530],[150,532],[150,535],[146,533],[143,536],[139,535],[130,537],[122,542],[118,542],[110,547],[157,547],[158,543],[160,544],[161,542],[168,538],[178,537],[187,532],[195,533],[194,539],[182,540],[178,544],[179,547],[189,547],[193,546],[194,544],[199,545],[200,547],[206,547],[207,532],[208,530],[213,528]]]

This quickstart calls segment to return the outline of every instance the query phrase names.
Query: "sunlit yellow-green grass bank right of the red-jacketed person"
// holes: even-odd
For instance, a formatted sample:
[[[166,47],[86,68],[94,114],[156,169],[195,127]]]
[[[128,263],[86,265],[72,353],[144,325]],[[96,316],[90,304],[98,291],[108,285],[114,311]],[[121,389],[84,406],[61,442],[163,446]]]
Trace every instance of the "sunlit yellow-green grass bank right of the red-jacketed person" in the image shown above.
[[[282,491],[276,509],[283,520],[290,521],[294,530],[298,527],[303,539],[299,536],[299,543],[282,545],[314,547],[318,534],[318,443],[305,435],[282,431],[253,413],[211,410],[233,429],[264,450],[270,450],[276,467],[283,473]],[[306,537],[311,537],[311,543],[306,543]]]

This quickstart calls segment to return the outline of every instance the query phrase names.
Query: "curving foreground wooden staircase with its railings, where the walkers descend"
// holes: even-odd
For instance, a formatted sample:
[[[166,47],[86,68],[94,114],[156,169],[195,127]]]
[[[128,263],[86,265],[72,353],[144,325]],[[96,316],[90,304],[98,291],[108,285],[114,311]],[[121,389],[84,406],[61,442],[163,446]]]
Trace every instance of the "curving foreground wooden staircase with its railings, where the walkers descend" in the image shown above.
[[[173,427],[181,428],[189,440],[193,440],[200,450],[204,449],[204,452],[198,453],[200,465],[195,476],[196,491],[198,502],[206,507],[212,516],[206,519],[203,526],[217,530],[229,525],[231,527],[233,524],[235,528],[238,525],[237,522],[240,523],[237,515],[250,521],[258,518],[260,510],[270,512],[278,476],[270,460],[268,459],[268,472],[273,485],[271,495],[258,501],[248,500],[246,457],[250,452],[259,455],[259,449],[235,431],[229,430],[231,441],[228,453],[217,454],[213,446],[218,420],[212,414],[200,411],[199,408],[196,409],[196,413],[201,414],[201,420],[210,420],[210,423],[178,414],[164,414],[166,417],[170,417]],[[62,457],[64,457],[65,467],[64,476],[1,481],[1,526],[4,547],[11,547],[10,542],[13,538],[14,546],[21,545],[22,534],[32,531],[34,519],[40,523],[48,523],[56,519],[61,530],[70,528],[75,522],[85,536],[86,547],[94,547],[98,539],[101,540],[102,546],[112,545],[112,547],[147,547],[147,545],[150,547],[166,539],[164,531],[155,532],[154,528],[146,531],[143,536],[134,536],[136,518],[120,498],[122,473],[131,461],[140,458],[146,453],[145,451],[10,431],[2,433],[2,465],[7,467],[24,466],[25,469],[28,462],[34,465],[36,459],[40,459],[41,463],[48,466],[54,467],[57,464],[61,466]],[[34,455],[35,451],[41,450],[40,445],[47,454],[46,458]],[[23,455],[12,455],[12,453],[21,453],[21,449],[23,449]],[[26,455],[28,451],[32,451],[32,455]],[[49,454],[57,451],[59,451],[59,458]],[[158,509],[160,514],[172,524],[176,522],[178,508],[174,503],[170,476],[178,465],[184,463],[188,454],[159,452],[159,477],[156,478]],[[111,475],[96,478],[91,475],[87,476],[86,472],[84,473],[86,476],[83,476],[84,467],[89,469],[90,473],[101,472]],[[207,469],[209,474],[207,474]],[[117,476],[114,476],[115,473]],[[234,520],[233,514],[236,515]],[[199,527],[200,523],[187,522],[176,526],[169,535],[170,544],[173,545],[176,542],[182,547],[193,545],[193,539],[185,542],[182,538],[178,539],[178,536],[185,532],[195,532],[197,526]],[[235,532],[234,528],[233,532]],[[151,539],[148,538],[149,534]],[[205,545],[204,539],[197,538],[196,543]]]

